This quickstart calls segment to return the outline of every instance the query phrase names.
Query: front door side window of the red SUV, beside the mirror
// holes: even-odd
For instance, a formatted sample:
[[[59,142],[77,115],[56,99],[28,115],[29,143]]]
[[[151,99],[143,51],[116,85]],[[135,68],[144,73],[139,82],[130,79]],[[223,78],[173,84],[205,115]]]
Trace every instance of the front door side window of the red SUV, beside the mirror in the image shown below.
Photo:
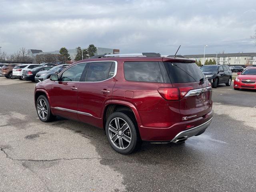
[[[62,73],[61,81],[80,81],[86,63],[76,64]]]

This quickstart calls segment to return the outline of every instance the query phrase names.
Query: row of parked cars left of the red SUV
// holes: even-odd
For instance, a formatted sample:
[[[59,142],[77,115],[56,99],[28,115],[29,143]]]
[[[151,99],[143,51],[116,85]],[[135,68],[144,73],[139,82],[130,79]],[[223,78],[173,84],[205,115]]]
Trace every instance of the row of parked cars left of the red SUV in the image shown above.
[[[10,79],[41,82],[52,74],[58,74],[67,66],[69,64],[0,64],[0,74]]]

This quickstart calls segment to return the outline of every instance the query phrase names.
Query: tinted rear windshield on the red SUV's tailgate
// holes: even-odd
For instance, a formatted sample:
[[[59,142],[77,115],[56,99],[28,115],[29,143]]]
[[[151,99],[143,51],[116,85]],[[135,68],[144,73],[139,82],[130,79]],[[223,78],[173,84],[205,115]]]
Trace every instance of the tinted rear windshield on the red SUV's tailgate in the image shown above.
[[[195,63],[164,62],[172,83],[198,82],[204,74]]]

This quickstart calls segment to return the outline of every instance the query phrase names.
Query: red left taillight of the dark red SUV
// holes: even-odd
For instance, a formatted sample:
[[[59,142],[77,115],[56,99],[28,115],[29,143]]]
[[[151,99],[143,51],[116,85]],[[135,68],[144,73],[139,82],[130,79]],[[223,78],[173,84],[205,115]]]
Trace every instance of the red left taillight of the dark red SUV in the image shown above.
[[[174,101],[182,99],[193,87],[160,87],[159,94],[166,100]]]

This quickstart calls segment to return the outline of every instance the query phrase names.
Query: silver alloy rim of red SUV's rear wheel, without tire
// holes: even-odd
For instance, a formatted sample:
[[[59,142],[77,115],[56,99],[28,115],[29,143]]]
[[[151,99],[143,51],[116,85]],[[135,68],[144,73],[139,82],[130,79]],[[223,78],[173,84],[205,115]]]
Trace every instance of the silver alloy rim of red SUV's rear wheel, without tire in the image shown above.
[[[126,149],[131,143],[132,134],[128,123],[122,118],[114,118],[108,126],[111,142],[118,149]]]

